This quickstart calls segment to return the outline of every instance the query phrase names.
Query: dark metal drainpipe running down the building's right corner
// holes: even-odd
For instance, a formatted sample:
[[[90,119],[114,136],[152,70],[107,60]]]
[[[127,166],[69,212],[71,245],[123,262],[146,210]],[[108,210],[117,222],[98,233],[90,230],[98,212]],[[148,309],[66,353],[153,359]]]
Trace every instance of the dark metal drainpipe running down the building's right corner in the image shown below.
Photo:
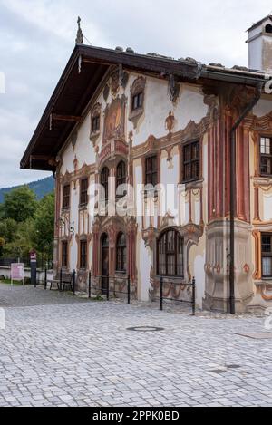
[[[236,216],[236,130],[259,101],[264,83],[257,85],[257,94],[230,130],[230,236],[229,236],[229,313],[235,314],[235,216]]]

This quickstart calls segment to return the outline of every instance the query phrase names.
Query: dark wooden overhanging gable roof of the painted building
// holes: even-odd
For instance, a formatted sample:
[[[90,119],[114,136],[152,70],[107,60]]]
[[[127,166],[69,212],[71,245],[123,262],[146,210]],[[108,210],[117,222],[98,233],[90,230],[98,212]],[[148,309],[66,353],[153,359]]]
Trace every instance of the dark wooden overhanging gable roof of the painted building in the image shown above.
[[[257,85],[264,79],[264,75],[257,72],[230,70],[201,65],[191,60],[176,61],[160,55],[141,55],[77,44],[24,152],[22,169],[54,169],[52,160],[62,149],[76,123],[83,117],[92,95],[112,65],[122,65],[131,71],[149,72],[161,77],[174,74],[180,82],[204,79]],[[57,116],[57,119],[53,120],[51,127],[52,116]],[[63,117],[63,120],[60,117]]]

